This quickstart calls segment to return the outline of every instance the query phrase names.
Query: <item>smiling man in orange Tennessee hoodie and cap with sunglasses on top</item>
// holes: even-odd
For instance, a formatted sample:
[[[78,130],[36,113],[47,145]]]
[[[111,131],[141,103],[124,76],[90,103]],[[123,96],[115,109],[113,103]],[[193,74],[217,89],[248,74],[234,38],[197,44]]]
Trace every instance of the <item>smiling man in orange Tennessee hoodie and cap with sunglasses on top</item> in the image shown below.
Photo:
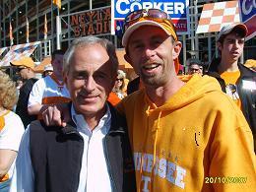
[[[181,42],[166,14],[130,13],[122,43],[145,87],[117,106],[127,119],[140,191],[253,191],[250,128],[214,78],[178,79]]]

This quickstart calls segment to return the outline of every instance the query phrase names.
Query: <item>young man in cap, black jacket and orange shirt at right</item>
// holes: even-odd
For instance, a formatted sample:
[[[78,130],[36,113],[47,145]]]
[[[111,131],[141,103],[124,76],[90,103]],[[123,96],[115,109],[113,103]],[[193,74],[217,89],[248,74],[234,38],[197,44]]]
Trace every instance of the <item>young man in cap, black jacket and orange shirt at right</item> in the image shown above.
[[[256,146],[255,72],[239,63],[247,32],[243,24],[223,27],[217,41],[221,57],[211,64],[208,74],[219,81],[223,92],[242,110]]]

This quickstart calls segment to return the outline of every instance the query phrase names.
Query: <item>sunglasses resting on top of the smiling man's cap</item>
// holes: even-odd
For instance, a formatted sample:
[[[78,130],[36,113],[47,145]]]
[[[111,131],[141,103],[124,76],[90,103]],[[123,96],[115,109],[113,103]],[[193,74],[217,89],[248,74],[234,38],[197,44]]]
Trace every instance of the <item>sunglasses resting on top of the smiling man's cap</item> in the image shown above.
[[[124,20],[124,31],[141,18],[152,19],[153,21],[169,20],[168,14],[159,9],[141,9],[129,13]]]

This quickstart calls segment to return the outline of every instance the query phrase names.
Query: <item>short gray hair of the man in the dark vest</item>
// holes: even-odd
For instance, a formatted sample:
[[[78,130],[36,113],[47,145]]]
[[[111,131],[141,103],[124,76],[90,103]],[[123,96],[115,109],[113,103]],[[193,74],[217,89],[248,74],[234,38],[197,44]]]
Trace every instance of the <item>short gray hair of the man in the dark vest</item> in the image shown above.
[[[76,48],[86,47],[86,46],[89,46],[92,44],[100,44],[103,48],[105,48],[105,50],[109,56],[109,60],[111,62],[112,72],[114,75],[117,74],[117,69],[118,69],[119,63],[118,63],[118,59],[117,59],[116,52],[115,52],[115,46],[113,45],[113,43],[111,41],[109,41],[106,38],[99,38],[99,37],[92,36],[92,35],[77,38],[72,41],[68,50],[64,54],[63,72],[64,73],[69,72],[70,65],[72,64],[70,62],[71,62],[71,59],[74,55]],[[85,54],[87,54],[87,53],[85,52]]]

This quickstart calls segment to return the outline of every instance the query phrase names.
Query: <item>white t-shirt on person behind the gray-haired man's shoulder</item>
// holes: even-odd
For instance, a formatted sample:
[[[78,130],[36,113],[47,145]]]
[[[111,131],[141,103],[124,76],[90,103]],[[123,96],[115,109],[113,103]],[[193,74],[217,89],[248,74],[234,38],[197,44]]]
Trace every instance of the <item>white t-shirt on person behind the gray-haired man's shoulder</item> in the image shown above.
[[[70,95],[65,85],[63,88],[57,85],[50,76],[39,79],[32,86],[28,106],[34,104],[52,104],[69,101]]]

